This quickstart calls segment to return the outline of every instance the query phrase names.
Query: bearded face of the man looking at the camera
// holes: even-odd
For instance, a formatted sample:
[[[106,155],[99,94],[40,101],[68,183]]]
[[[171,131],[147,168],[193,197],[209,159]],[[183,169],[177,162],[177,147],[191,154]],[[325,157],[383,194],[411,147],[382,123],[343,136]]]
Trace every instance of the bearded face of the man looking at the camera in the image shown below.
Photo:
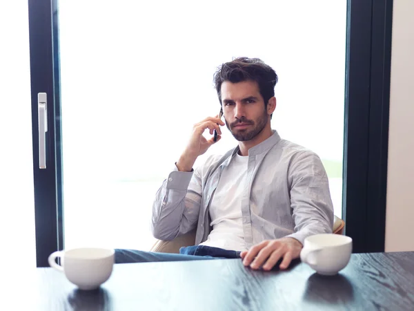
[[[269,122],[257,82],[223,82],[221,103],[226,126],[239,142],[255,138]]]

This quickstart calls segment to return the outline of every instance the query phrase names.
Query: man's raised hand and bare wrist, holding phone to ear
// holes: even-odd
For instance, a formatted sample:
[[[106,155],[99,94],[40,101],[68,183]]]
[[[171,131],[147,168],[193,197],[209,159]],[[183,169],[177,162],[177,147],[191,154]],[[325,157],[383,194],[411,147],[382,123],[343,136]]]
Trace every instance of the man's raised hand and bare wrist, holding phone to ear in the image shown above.
[[[188,142],[184,153],[181,154],[181,157],[176,164],[179,171],[191,171],[198,156],[201,156],[207,151],[208,148],[210,148],[212,144],[215,144],[214,137],[207,140],[203,136],[206,129],[210,130],[211,135],[213,135],[214,130],[216,130],[219,134],[217,135],[217,142],[220,140],[221,129],[219,125],[223,126],[224,122],[217,116],[207,117],[203,121],[194,124],[193,135],[191,135],[190,141]]]

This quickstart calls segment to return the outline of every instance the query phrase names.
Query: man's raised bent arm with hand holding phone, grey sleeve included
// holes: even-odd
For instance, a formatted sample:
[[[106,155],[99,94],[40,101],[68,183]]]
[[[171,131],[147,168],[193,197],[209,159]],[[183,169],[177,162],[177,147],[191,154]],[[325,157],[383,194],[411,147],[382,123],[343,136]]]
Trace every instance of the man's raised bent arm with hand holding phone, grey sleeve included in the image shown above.
[[[206,129],[217,131],[221,138],[219,126],[223,126],[217,117],[207,117],[194,124],[193,134],[186,149],[180,156],[174,170],[157,191],[152,206],[151,229],[155,238],[170,241],[179,234],[185,234],[197,225],[201,204],[201,170],[193,172],[197,158],[215,144],[214,138],[207,140],[203,133]]]

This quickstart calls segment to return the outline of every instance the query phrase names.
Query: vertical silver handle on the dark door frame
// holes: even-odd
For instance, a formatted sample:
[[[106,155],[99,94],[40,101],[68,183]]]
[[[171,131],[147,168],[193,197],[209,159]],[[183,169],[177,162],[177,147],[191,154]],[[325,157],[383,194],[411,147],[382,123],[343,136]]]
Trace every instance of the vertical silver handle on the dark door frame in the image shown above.
[[[39,119],[39,169],[46,169],[46,132],[48,131],[48,98],[46,93],[37,94]]]

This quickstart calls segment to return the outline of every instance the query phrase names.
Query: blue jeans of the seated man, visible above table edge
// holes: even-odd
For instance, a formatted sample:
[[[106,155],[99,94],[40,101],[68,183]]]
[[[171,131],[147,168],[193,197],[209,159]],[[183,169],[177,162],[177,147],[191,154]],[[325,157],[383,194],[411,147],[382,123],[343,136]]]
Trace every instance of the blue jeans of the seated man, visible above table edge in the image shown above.
[[[199,261],[224,258],[240,258],[240,252],[206,245],[181,247],[179,249],[179,254],[144,252],[135,249],[115,249],[115,263]]]

